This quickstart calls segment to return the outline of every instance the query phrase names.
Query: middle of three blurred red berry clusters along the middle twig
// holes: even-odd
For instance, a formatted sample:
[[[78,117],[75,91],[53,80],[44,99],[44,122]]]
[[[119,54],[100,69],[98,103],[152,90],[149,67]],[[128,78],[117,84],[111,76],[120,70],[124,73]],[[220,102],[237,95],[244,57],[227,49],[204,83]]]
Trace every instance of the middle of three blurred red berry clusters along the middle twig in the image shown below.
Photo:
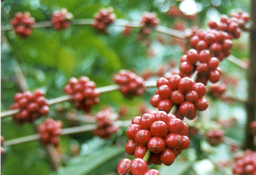
[[[91,106],[99,103],[99,93],[96,92],[95,87],[95,83],[87,76],[81,76],[79,79],[72,77],[69,79],[69,84],[64,87],[64,92],[73,95],[76,109],[90,112]]]

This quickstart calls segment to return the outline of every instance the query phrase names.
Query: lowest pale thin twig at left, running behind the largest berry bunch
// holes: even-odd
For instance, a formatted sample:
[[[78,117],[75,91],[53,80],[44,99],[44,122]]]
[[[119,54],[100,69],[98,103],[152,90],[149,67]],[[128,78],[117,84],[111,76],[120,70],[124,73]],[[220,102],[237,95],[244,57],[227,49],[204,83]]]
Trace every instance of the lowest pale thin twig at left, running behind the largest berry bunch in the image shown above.
[[[114,121],[115,126],[119,127],[126,127],[131,124],[131,120],[124,120],[124,121]],[[65,128],[62,129],[61,135],[69,135],[69,134],[74,134],[74,133],[81,133],[81,132],[86,132],[86,131],[91,131],[96,129],[97,125],[96,124],[87,124],[83,126],[76,126],[76,127],[70,127],[70,128]],[[24,136],[21,138],[17,139],[12,139],[9,141],[4,142],[4,147],[10,146],[10,145],[16,145],[16,144],[22,144],[25,142],[30,142],[30,141],[35,141],[40,139],[39,134],[34,134],[34,135],[29,135],[29,136]]]

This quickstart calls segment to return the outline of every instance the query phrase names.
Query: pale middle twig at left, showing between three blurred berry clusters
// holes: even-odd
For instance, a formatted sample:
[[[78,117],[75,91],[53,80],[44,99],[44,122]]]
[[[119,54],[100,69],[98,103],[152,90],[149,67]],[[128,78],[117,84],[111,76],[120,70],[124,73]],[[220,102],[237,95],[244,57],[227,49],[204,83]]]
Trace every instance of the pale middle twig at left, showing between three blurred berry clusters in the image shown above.
[[[156,81],[145,81],[145,86],[146,87],[156,87]],[[119,89],[120,89],[119,85],[116,85],[116,84],[95,88],[96,92],[98,92],[98,93],[107,93],[107,92],[115,91],[115,90],[119,90]],[[69,101],[69,100],[72,100],[72,99],[73,99],[73,96],[69,96],[69,95],[57,97],[55,99],[50,99],[49,100],[49,105],[54,105],[56,103],[66,102],[66,101]],[[1,112],[1,118],[5,118],[5,117],[8,117],[8,116],[17,114],[18,112],[20,112],[20,109],[13,109],[13,110]]]

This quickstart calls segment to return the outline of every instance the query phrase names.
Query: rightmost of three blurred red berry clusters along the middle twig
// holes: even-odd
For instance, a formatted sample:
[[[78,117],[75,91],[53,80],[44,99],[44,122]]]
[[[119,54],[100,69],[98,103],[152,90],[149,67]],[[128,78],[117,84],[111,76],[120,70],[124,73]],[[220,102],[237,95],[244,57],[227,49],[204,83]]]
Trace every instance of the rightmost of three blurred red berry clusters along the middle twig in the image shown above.
[[[120,70],[114,81],[125,97],[141,96],[146,90],[144,79],[129,70]]]

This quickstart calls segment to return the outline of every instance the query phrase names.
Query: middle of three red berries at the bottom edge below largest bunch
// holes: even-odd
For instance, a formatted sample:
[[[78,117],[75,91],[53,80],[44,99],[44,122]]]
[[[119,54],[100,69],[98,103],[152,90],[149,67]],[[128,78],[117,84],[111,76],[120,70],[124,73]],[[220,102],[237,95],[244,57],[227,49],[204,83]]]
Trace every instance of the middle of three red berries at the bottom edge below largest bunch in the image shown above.
[[[148,171],[148,164],[145,160],[136,158],[131,162],[130,170],[134,175],[144,175]]]

